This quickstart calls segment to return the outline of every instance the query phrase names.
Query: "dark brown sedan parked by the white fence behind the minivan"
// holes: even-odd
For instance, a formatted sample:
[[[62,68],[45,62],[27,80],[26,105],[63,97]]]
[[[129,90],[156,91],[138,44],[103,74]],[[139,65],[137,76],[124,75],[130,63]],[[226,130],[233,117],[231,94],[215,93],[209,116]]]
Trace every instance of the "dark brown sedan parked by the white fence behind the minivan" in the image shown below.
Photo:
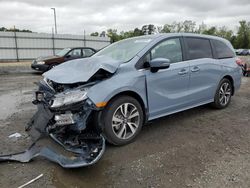
[[[96,50],[89,47],[64,48],[55,56],[37,58],[32,62],[31,68],[34,70],[45,72],[63,62],[73,59],[90,57],[94,53],[96,53]]]

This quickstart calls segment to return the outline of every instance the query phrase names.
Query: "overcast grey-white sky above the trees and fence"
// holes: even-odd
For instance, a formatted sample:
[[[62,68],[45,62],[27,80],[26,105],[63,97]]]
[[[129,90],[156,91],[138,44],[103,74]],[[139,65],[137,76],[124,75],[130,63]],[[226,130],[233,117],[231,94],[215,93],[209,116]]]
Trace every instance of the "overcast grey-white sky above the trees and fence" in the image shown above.
[[[250,0],[0,0],[0,27],[51,32],[56,8],[58,33],[82,34],[193,20],[235,29],[250,21]]]

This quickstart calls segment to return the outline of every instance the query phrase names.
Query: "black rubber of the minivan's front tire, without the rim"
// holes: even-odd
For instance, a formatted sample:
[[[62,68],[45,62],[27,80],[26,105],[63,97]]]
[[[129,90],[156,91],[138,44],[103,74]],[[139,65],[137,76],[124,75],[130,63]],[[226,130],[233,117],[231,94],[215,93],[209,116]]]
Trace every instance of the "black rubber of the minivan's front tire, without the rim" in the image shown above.
[[[116,109],[123,103],[132,103],[133,105],[135,105],[140,115],[140,120],[139,120],[140,122],[136,130],[136,133],[128,139],[117,138],[112,129],[113,114],[115,113]],[[104,109],[104,112],[102,114],[102,120],[103,120],[103,134],[106,140],[113,145],[125,145],[134,141],[134,139],[141,131],[144,120],[144,114],[140,103],[135,98],[130,96],[119,96],[111,100],[108,106]]]

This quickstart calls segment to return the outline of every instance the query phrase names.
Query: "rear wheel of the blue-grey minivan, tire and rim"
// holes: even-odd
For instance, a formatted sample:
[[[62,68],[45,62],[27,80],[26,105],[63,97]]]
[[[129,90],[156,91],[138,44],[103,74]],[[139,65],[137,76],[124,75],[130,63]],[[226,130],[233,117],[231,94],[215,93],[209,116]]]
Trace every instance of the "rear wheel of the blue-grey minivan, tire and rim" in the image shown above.
[[[227,78],[223,78],[216,90],[212,106],[217,109],[226,108],[231,102],[232,91],[233,87],[230,80],[228,80]]]

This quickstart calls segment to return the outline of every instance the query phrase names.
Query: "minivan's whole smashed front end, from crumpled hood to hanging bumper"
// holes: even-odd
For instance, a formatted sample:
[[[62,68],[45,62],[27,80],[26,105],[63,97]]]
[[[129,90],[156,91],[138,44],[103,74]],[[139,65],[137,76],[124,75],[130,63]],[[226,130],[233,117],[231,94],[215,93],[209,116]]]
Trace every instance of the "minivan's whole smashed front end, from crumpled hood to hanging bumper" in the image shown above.
[[[29,162],[41,156],[65,168],[96,163],[105,150],[98,127],[101,107],[96,107],[87,93],[93,85],[109,79],[120,64],[110,57],[92,56],[68,61],[44,73],[33,101],[38,110],[26,127],[33,144],[24,152],[0,156],[0,161]],[[71,155],[38,145],[38,140],[46,136]]]

